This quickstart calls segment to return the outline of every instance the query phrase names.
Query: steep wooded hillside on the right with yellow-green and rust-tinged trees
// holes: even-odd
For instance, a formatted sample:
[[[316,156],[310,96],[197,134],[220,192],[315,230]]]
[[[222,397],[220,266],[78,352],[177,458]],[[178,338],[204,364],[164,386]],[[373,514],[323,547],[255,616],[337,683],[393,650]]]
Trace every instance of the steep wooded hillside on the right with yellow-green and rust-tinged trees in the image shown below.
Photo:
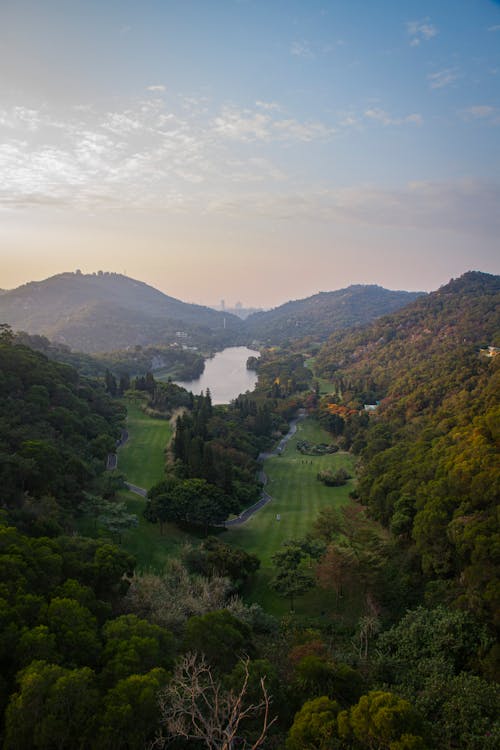
[[[323,419],[362,459],[360,499],[417,553],[429,603],[490,625],[500,625],[498,346],[500,277],[470,272],[334,334],[316,360],[337,386]],[[376,402],[369,418],[357,415]]]

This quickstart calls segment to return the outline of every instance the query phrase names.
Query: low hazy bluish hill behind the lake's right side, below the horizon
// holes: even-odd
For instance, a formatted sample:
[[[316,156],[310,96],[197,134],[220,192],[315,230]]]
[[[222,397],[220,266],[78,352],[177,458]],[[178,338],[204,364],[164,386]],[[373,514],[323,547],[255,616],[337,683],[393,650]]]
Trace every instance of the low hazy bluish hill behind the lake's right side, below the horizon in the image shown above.
[[[305,336],[324,340],[337,329],[369,323],[422,294],[390,291],[374,284],[355,284],[250,315],[246,329],[254,339],[271,344]]]

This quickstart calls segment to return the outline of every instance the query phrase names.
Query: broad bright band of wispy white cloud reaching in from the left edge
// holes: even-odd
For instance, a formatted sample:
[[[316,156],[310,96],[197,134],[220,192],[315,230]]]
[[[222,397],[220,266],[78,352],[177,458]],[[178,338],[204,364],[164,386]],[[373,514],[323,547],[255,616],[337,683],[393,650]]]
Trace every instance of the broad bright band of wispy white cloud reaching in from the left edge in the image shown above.
[[[227,184],[286,181],[262,145],[306,144],[333,133],[321,122],[283,116],[275,102],[214,113],[205,99],[172,100],[167,106],[151,92],[121,109],[78,106],[57,117],[0,109],[0,205],[178,212],[198,201],[200,209]]]

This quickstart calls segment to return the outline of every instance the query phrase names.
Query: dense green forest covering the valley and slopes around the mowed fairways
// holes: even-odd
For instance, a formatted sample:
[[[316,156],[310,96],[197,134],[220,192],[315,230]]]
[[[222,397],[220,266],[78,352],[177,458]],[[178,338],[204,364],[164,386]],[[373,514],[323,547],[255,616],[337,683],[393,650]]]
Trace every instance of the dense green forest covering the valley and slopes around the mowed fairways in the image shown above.
[[[310,366],[307,341],[264,350],[255,391],[223,407],[151,372],[89,379],[2,326],[3,747],[499,747],[499,301],[498,277],[470,273]],[[116,543],[124,393],[178,414],[146,515],[198,531],[162,571]],[[273,556],[292,610],[313,588],[331,610],[277,619],[245,599],[258,556],[208,532],[259,496],[258,455],[298,409],[358,481]]]

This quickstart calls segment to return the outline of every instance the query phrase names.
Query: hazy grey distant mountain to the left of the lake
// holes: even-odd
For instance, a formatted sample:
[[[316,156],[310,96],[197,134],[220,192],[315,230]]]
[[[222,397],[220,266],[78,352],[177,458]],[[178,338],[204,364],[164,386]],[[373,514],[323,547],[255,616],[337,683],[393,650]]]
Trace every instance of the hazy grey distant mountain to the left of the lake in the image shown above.
[[[177,341],[236,343],[242,321],[169,297],[122,274],[62,273],[0,295],[0,322],[83,352]]]

